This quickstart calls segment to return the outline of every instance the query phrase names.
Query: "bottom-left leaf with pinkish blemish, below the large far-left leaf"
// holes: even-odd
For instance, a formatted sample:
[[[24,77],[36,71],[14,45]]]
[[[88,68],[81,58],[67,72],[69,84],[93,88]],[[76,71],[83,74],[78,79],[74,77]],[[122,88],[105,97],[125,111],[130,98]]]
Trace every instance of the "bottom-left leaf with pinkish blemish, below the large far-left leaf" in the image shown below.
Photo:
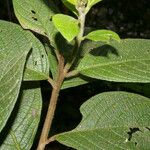
[[[0,139],[4,139],[1,150],[29,150],[33,144],[40,121],[42,97],[39,86],[33,86],[33,82],[27,83],[27,87],[29,85],[32,89],[24,86],[10,122],[1,133]]]

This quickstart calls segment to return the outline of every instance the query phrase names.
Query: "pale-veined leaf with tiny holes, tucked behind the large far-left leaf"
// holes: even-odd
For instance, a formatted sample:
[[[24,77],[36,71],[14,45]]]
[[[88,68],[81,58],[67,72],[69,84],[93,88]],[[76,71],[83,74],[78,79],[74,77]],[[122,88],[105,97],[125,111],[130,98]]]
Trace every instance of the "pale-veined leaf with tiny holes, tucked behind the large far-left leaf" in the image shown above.
[[[29,32],[28,38],[32,45],[32,51],[26,63],[24,80],[46,80],[49,76],[49,62],[45,48],[31,32]]]

